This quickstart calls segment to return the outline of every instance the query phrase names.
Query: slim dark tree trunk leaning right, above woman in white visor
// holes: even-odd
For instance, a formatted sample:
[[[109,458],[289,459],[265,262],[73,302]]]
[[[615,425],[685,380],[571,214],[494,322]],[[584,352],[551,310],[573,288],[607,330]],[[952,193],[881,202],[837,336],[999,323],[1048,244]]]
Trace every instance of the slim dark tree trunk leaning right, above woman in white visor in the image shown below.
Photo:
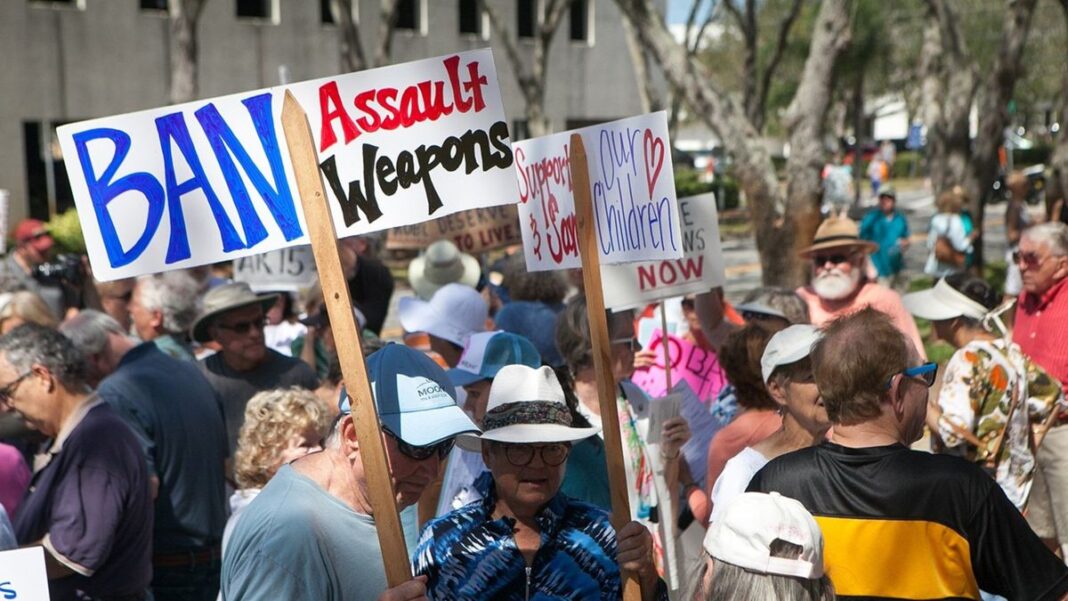
[[[998,148],[1004,143],[1008,125],[1008,101],[1023,75],[1023,50],[1031,31],[1037,0],[1007,0],[1001,47],[990,78],[979,98],[979,132],[975,138],[971,169],[963,181],[970,196],[969,208],[975,227],[983,231],[984,203],[998,175]],[[975,244],[975,264],[983,265],[983,244]]]

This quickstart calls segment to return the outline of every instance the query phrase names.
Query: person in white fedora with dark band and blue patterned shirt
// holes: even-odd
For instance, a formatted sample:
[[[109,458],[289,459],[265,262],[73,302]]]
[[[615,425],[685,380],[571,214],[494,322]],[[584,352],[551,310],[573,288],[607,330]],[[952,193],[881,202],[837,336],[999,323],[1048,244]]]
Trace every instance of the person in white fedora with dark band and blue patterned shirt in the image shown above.
[[[483,433],[456,441],[489,468],[481,497],[428,522],[414,553],[429,598],[619,599],[621,566],[638,573],[643,599],[668,598],[645,526],[616,533],[603,509],[560,492],[571,443],[598,431],[571,421],[551,367],[497,373]]]

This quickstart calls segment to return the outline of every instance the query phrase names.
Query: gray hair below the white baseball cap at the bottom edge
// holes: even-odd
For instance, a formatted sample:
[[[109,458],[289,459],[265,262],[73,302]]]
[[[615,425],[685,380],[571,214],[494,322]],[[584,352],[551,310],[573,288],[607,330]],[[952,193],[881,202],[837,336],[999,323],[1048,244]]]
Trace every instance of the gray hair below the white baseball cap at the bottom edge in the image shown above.
[[[772,601],[834,601],[834,585],[826,575],[802,579],[754,572],[721,562],[714,557],[711,590],[702,590],[701,583],[708,573],[708,562],[696,574],[694,599],[700,601],[735,601],[737,599],[768,599]]]

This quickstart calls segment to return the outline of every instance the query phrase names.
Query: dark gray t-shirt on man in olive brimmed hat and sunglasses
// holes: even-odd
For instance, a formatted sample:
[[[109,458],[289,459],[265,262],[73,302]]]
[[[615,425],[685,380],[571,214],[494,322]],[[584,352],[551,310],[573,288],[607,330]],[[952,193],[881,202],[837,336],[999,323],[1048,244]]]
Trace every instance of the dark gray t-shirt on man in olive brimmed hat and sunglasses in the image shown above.
[[[261,391],[289,386],[314,391],[319,385],[318,377],[308,364],[271,349],[267,349],[264,362],[249,371],[235,370],[226,365],[222,353],[218,352],[200,361],[198,366],[219,395],[222,416],[226,421],[231,457],[237,448],[237,433],[245,423],[245,406],[253,395]]]

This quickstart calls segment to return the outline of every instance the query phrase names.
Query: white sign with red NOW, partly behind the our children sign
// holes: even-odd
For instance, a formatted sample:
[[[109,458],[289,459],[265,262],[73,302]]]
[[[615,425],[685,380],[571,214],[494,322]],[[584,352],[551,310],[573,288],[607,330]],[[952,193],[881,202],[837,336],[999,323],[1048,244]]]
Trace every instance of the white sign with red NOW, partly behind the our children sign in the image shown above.
[[[723,250],[716,195],[678,200],[682,258],[601,267],[604,299],[612,310],[630,309],[722,286]]]

